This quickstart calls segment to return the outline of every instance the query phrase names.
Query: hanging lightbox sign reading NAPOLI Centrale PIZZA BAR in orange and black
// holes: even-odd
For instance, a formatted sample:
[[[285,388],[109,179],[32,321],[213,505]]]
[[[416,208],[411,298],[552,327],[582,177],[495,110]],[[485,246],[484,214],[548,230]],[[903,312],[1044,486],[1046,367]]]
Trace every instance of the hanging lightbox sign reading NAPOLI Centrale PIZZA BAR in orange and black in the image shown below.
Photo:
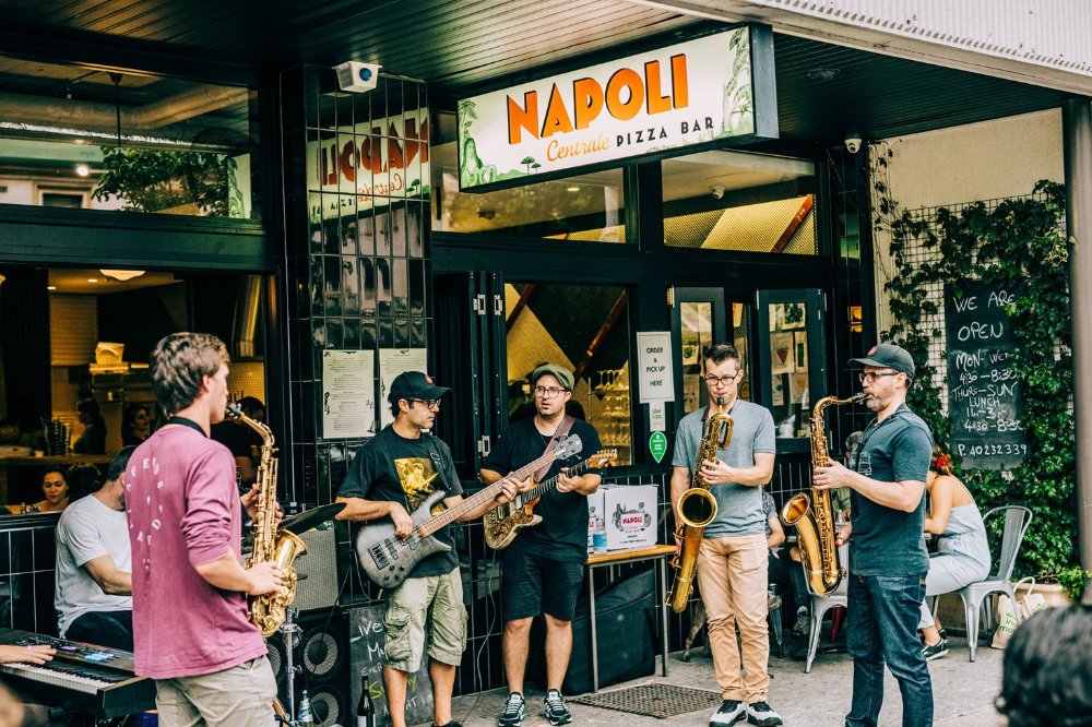
[[[746,25],[459,102],[459,183],[485,191],[778,135],[770,28]]]

